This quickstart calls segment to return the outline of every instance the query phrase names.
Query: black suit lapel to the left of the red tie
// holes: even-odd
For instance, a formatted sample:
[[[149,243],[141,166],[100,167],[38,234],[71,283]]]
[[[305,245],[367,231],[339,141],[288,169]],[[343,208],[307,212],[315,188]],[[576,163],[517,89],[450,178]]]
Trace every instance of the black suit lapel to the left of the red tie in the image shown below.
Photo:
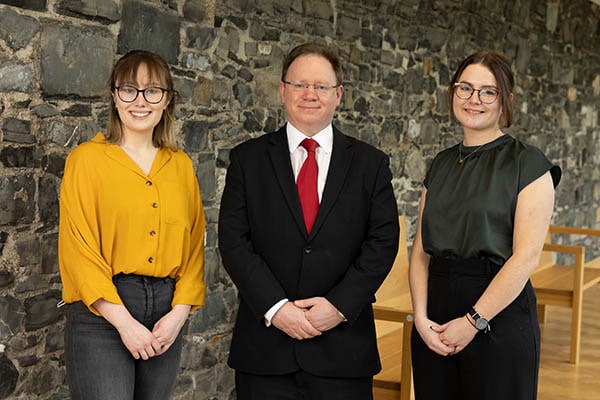
[[[298,228],[306,235],[302,208],[300,207],[300,199],[298,198],[298,190],[290,161],[290,150],[285,125],[272,136],[268,152],[273,164],[273,171],[275,172],[285,201],[294,216],[294,220],[298,224]]]

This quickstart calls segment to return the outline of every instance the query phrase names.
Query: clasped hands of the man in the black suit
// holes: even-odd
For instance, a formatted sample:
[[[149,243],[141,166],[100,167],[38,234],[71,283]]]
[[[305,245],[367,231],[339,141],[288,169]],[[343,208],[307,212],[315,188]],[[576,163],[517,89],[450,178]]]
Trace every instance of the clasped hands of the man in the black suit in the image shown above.
[[[298,340],[319,336],[342,321],[338,309],[324,297],[288,301],[271,319],[277,329]]]

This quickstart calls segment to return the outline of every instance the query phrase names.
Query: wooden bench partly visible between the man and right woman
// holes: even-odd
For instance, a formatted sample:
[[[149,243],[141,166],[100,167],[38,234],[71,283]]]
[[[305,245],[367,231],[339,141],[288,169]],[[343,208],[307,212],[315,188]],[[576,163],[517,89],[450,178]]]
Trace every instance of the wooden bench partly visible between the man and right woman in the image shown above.
[[[412,364],[410,333],[413,325],[412,302],[408,286],[408,248],[406,222],[399,216],[398,253],[389,275],[377,291],[373,304],[377,346],[382,370],[375,375],[373,386],[400,392],[400,400],[410,400]]]

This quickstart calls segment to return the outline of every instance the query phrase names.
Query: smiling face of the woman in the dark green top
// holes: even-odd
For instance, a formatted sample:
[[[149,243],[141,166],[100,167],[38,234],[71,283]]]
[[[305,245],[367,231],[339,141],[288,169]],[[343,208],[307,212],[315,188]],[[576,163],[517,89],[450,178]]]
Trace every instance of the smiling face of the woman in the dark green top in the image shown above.
[[[471,64],[466,67],[458,82],[468,83],[474,89],[498,88],[494,74],[482,64]],[[469,99],[461,99],[455,92],[452,96],[452,107],[455,118],[465,131],[495,134],[500,130],[502,115],[500,96],[493,103],[484,104],[479,100],[479,91],[475,91]]]

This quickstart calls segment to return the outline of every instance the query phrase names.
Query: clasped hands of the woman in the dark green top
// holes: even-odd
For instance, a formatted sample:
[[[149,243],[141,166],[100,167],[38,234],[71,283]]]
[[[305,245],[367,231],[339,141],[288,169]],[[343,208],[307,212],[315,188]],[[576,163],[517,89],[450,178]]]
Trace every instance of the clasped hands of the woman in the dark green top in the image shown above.
[[[467,318],[456,318],[443,325],[429,319],[415,323],[427,347],[439,355],[449,356],[464,350],[478,332]]]

